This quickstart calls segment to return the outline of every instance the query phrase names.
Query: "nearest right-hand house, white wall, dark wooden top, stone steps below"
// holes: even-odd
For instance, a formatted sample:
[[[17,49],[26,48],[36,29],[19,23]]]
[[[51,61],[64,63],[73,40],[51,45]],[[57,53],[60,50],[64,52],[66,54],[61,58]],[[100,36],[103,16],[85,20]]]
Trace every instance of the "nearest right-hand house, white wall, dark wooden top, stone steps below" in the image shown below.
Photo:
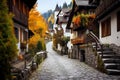
[[[120,0],[100,0],[95,13],[99,25],[99,40],[112,49],[107,54],[106,50],[102,54],[106,73],[120,75]]]

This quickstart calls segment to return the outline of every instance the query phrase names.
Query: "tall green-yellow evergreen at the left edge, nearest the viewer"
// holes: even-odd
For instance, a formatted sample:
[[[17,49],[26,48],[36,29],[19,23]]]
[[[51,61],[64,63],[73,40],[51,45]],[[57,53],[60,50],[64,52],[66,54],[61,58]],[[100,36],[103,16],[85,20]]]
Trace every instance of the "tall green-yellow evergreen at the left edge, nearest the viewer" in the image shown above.
[[[0,79],[11,80],[10,61],[17,54],[12,15],[8,14],[7,1],[0,1]]]

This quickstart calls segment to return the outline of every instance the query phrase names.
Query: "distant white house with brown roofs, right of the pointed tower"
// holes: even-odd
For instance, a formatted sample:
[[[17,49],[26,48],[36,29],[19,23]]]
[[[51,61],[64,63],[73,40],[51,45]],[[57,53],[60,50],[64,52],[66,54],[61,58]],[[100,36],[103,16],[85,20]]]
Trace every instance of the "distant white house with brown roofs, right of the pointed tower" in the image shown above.
[[[63,29],[63,36],[68,37],[68,38],[70,37],[71,32],[69,29],[66,29],[66,25],[68,22],[70,12],[71,12],[70,8],[64,8],[64,9],[59,10],[58,14],[56,15],[57,16],[57,19],[56,19],[57,28]],[[67,45],[69,48],[70,45],[69,44]],[[58,50],[61,51],[61,49],[62,49],[62,46],[58,45]]]

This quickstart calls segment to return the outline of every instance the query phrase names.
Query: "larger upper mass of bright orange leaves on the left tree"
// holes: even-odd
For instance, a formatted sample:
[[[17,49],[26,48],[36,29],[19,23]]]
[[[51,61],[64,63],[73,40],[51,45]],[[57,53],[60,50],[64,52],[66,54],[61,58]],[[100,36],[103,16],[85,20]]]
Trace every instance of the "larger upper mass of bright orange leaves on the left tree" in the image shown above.
[[[29,29],[34,34],[38,34],[36,30],[42,29],[42,36],[45,36],[45,32],[48,30],[48,25],[44,17],[36,10],[36,6],[29,13]]]

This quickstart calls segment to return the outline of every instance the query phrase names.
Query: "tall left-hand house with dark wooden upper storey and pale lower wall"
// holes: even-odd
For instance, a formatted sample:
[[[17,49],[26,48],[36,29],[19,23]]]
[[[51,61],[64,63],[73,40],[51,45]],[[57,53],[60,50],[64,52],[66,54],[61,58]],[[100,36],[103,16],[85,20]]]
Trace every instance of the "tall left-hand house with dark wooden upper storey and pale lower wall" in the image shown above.
[[[9,12],[13,13],[14,31],[19,54],[28,51],[28,39],[33,33],[28,29],[29,11],[37,0],[7,0]]]

